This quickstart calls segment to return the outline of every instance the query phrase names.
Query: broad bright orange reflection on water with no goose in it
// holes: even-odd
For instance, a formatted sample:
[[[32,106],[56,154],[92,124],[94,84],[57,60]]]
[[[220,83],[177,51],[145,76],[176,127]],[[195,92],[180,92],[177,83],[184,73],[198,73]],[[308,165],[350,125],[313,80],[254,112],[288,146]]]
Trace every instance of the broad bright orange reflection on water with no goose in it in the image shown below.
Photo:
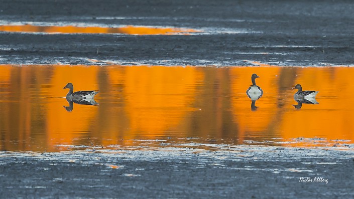
[[[192,67],[127,68],[123,94],[131,130],[151,132],[146,137],[156,138],[182,124],[184,117],[195,110],[197,81],[202,79],[203,74]],[[184,130],[181,132],[188,136]]]

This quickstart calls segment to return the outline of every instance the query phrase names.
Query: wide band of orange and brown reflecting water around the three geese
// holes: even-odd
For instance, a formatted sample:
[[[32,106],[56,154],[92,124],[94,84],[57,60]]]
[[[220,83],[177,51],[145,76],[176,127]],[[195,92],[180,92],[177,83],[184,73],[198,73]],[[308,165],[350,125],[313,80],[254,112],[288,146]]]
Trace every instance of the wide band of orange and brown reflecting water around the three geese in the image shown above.
[[[251,75],[263,90],[246,95]],[[354,68],[0,66],[0,149],[180,143],[314,146],[352,143]],[[96,106],[69,106],[63,87],[99,90]],[[318,104],[297,104],[295,84]]]

